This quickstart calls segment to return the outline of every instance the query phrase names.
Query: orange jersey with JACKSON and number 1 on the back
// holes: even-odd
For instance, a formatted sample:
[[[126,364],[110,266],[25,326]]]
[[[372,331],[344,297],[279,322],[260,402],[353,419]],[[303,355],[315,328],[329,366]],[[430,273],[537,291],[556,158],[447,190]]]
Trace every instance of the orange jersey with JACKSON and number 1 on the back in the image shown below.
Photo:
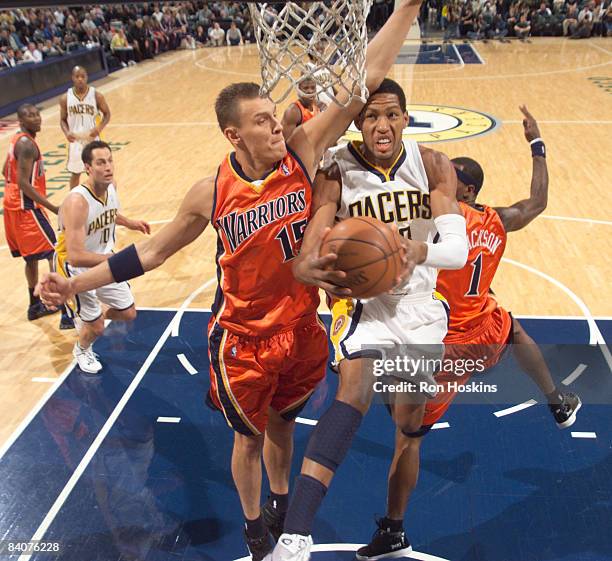
[[[494,209],[459,205],[465,216],[469,253],[462,269],[438,273],[437,290],[451,309],[445,341],[475,332],[497,307],[489,288],[506,248],[506,231]]]

